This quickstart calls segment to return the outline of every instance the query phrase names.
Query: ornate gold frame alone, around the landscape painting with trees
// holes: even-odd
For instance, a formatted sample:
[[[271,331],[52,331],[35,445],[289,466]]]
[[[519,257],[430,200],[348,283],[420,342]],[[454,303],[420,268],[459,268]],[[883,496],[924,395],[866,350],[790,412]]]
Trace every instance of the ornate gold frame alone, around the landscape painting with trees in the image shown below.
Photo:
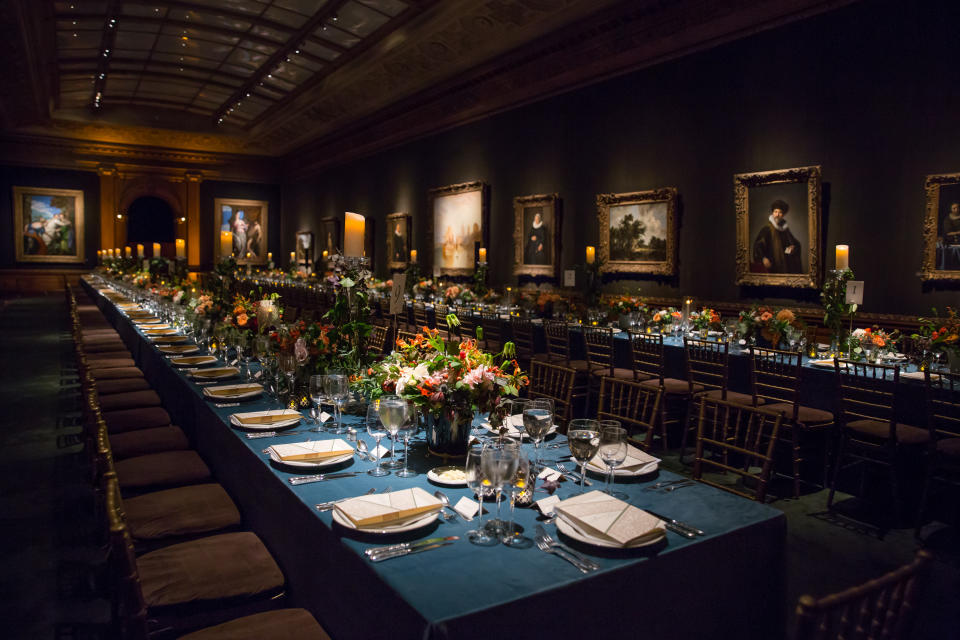
[[[610,207],[624,204],[667,203],[667,256],[662,261],[610,260]],[[600,227],[601,273],[649,273],[672,276],[677,273],[677,188],[597,194],[597,222]]]

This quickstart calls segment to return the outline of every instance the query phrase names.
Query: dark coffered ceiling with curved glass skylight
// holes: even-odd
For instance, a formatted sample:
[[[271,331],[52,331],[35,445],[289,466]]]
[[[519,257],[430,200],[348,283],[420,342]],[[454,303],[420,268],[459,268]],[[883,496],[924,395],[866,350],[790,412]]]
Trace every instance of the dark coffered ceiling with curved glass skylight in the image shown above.
[[[845,3],[3,0],[2,142],[303,174]]]

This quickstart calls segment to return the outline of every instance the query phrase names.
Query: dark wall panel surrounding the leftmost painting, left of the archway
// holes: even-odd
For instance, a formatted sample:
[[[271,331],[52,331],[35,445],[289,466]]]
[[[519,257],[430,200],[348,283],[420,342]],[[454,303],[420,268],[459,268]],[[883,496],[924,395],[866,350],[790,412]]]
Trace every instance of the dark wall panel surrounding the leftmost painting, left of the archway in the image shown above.
[[[15,242],[21,236],[13,228],[13,187],[79,189],[83,191],[84,256],[86,266],[97,262],[100,248],[100,178],[90,171],[68,171],[40,167],[0,166],[0,267],[28,269],[70,269],[84,265],[71,263],[16,262]]]

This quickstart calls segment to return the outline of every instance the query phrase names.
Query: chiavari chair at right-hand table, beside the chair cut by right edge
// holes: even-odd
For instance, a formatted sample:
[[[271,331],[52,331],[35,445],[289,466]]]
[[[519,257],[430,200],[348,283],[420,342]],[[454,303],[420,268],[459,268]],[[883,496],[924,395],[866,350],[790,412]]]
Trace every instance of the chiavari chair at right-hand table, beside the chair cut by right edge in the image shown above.
[[[837,445],[833,478],[827,508],[833,509],[833,497],[841,472],[867,464],[885,469],[890,480],[893,509],[884,509],[892,526],[902,513],[900,476],[904,458],[919,453],[930,442],[926,429],[897,422],[900,396],[900,367],[870,364],[834,358],[837,395],[840,408],[840,442]],[[845,459],[850,461],[844,464]],[[861,474],[860,495],[864,493]]]

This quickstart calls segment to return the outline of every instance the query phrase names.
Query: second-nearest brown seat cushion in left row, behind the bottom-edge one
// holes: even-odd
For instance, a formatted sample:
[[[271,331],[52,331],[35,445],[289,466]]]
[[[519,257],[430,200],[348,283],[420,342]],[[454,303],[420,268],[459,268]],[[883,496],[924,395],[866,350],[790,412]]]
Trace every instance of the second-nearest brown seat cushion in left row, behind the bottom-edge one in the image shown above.
[[[248,531],[171,545],[137,558],[150,608],[264,594],[283,573],[260,538]]]

